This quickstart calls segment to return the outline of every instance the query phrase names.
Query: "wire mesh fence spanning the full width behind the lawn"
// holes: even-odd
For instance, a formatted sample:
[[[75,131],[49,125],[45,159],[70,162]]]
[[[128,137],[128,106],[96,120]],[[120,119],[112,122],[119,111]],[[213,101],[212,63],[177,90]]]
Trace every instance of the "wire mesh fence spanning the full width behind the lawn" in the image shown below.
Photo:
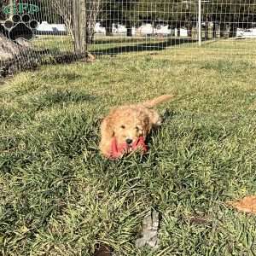
[[[256,52],[254,0],[2,0],[0,9],[1,73],[87,50]]]

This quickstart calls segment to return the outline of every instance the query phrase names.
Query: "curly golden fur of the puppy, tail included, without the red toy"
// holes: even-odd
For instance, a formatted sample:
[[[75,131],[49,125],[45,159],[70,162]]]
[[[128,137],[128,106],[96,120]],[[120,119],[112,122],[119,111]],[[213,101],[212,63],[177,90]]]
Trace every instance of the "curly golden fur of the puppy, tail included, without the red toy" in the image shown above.
[[[166,102],[172,98],[163,95],[153,100],[115,108],[108,116],[102,120],[100,150],[102,154],[108,156],[113,137],[117,143],[130,143],[138,137],[147,137],[154,126],[161,124],[159,113],[153,108],[160,102]]]

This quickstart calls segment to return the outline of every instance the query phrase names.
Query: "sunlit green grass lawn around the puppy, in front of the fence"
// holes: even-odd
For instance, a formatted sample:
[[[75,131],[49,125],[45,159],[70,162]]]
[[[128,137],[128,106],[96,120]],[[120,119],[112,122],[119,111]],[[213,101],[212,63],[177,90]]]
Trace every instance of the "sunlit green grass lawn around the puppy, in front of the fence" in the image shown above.
[[[244,41],[245,42],[245,41]],[[166,49],[19,73],[0,88],[0,255],[255,255],[255,43]],[[229,43],[226,42],[225,45]],[[233,44],[230,44],[232,48]],[[245,45],[245,46],[244,46]],[[148,154],[105,160],[116,104],[175,93]],[[148,208],[160,247],[134,246]]]

